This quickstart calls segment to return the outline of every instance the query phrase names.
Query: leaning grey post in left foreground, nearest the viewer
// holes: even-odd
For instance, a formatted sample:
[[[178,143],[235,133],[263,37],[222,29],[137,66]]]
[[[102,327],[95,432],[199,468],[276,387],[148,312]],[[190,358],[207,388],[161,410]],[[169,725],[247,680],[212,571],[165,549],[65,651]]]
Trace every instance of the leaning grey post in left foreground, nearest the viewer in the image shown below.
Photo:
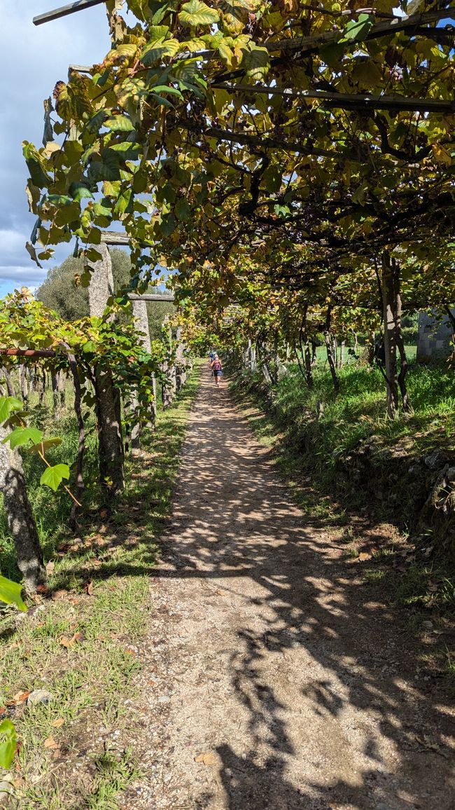
[[[9,433],[10,430],[0,425],[0,442]],[[23,576],[23,586],[30,594],[45,582],[43,554],[25,488],[22,458],[17,450],[11,450],[10,445],[2,443],[0,443],[0,490],[8,526],[15,543],[19,570]]]

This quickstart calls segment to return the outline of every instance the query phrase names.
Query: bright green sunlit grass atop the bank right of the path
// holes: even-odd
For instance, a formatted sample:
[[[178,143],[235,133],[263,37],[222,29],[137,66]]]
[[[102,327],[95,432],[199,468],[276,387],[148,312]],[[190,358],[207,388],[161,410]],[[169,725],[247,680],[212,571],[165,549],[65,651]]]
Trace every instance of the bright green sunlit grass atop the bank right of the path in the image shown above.
[[[281,437],[280,461],[290,470],[312,471],[325,486],[338,480],[342,462],[373,434],[379,445],[404,441],[410,457],[436,446],[455,449],[455,375],[452,369],[412,364],[407,382],[411,416],[385,416],[385,383],[378,369],[350,365],[338,372],[341,393],[335,396],[329,373],[315,371],[309,391],[296,366],[272,390],[257,375],[236,376],[234,390],[247,394],[262,413],[252,417],[265,441]],[[323,415],[317,420],[317,403]]]

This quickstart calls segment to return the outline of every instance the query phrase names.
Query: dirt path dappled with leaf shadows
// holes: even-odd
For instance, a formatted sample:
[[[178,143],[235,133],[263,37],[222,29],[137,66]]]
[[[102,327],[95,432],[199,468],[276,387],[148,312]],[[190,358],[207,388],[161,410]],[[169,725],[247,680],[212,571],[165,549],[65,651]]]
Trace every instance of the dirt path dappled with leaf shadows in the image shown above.
[[[129,808],[453,808],[440,687],[205,371],[153,590]]]

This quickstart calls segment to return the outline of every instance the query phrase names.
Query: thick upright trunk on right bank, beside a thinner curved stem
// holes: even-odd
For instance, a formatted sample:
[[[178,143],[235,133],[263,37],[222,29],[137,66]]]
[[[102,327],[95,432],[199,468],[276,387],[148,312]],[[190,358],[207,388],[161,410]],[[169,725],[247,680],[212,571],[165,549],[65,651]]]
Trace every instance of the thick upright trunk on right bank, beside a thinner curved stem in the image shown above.
[[[385,382],[387,386],[387,416],[398,414],[397,367],[397,265],[390,260],[388,251],[382,256],[382,317],[384,320]]]

